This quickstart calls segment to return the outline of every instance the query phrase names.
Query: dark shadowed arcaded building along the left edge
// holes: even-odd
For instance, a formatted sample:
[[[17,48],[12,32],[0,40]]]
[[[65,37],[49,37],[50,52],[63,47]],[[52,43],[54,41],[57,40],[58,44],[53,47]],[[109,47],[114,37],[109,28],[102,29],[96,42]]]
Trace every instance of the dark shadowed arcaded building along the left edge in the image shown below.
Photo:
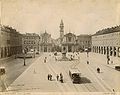
[[[0,31],[0,58],[22,52],[22,35],[9,26],[1,26]]]

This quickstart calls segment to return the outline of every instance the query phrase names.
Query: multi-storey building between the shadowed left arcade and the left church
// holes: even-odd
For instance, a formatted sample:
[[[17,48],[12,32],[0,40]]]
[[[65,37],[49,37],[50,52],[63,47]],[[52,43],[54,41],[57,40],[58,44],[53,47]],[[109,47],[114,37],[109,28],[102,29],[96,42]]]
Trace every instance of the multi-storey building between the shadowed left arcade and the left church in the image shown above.
[[[39,40],[40,36],[35,33],[26,33],[22,36],[22,50],[27,49],[27,51],[34,50],[39,52]]]

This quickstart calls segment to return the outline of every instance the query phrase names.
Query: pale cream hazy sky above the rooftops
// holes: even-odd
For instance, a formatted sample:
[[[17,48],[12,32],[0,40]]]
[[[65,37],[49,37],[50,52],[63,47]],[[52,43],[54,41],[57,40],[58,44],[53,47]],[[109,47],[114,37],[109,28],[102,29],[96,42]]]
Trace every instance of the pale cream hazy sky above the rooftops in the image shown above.
[[[120,25],[120,0],[1,0],[1,24],[20,33],[94,34]]]

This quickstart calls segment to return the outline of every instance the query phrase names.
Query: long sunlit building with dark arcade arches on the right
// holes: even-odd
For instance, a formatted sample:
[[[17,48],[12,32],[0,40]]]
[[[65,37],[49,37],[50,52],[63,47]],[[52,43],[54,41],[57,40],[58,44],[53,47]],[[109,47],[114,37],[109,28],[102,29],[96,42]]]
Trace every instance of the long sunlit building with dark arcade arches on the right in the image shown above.
[[[92,51],[120,57],[120,26],[103,29],[92,35]]]

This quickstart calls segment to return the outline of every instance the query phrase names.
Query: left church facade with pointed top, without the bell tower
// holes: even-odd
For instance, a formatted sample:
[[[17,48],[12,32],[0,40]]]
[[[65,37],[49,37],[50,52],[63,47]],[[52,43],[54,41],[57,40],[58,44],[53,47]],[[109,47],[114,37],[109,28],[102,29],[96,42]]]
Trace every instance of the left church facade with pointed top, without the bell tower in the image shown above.
[[[45,31],[45,33],[40,35],[39,51],[40,52],[52,52],[53,47],[54,47],[54,44],[53,44],[51,35]]]

